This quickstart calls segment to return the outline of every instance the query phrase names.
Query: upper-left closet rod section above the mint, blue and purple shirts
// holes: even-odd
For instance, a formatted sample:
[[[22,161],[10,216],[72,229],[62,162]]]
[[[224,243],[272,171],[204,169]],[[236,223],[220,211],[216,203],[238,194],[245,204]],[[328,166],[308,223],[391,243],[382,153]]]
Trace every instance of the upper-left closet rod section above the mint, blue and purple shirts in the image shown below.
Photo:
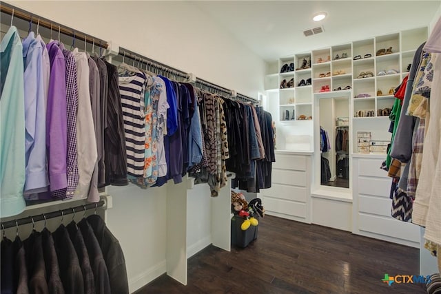
[[[101,40],[99,38],[95,38],[94,36],[89,36],[88,34],[84,34],[83,32],[79,32],[72,28],[68,28],[65,25],[61,25],[60,23],[55,23],[54,21],[50,21],[49,19],[45,19],[44,17],[40,17],[37,14],[30,14],[21,8],[17,8],[8,3],[0,4],[1,12],[13,15],[13,17],[17,17],[18,19],[23,19],[25,21],[31,21],[36,25],[40,25],[43,28],[47,28],[52,30],[52,32],[60,32],[66,36],[75,37],[75,39],[79,39],[85,41],[90,44],[95,44],[97,47],[101,47],[107,49],[107,41]],[[13,20],[12,20],[13,23]]]

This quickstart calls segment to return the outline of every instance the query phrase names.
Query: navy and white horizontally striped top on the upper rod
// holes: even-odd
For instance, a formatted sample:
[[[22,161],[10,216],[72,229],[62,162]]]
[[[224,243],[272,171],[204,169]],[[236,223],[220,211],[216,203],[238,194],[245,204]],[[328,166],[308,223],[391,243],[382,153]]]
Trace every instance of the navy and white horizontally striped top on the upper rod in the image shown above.
[[[127,174],[144,176],[145,121],[144,91],[146,77],[142,72],[134,76],[119,76],[119,93],[123,109]]]

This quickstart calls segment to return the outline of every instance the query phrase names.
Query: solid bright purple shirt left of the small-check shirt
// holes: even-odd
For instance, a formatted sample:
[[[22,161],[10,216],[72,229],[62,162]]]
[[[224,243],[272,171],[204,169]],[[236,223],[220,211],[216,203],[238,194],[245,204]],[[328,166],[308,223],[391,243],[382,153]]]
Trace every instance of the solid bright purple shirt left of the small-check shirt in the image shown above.
[[[66,176],[67,158],[67,105],[66,105],[66,63],[58,42],[46,45],[50,59],[50,80],[48,105],[46,109],[46,147],[50,191],[68,187]]]

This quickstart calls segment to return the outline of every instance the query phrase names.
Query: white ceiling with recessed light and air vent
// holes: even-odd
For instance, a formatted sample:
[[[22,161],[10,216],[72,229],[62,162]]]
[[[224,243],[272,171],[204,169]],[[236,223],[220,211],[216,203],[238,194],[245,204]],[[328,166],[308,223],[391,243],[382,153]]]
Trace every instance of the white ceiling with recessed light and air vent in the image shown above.
[[[265,61],[428,25],[435,1],[192,1]],[[312,21],[317,12],[328,17]],[[325,32],[305,37],[303,30]]]

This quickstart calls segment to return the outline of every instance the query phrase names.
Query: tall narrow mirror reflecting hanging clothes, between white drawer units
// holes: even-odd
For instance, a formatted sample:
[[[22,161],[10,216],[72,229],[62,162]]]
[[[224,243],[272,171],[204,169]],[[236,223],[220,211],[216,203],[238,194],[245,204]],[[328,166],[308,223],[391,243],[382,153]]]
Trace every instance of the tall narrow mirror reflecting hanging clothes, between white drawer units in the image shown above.
[[[349,98],[319,101],[320,185],[349,188]]]

